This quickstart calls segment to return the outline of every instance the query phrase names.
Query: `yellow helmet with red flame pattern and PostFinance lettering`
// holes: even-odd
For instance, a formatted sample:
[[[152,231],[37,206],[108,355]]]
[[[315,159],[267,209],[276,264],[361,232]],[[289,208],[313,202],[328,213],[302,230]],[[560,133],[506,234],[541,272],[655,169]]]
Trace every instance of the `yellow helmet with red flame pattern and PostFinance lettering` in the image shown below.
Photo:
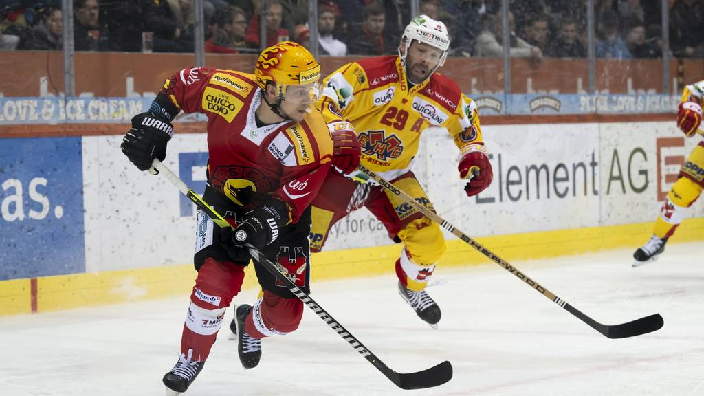
[[[283,98],[289,85],[306,85],[320,80],[320,63],[306,47],[294,42],[279,42],[259,54],[254,66],[257,84],[266,89],[273,82]]]

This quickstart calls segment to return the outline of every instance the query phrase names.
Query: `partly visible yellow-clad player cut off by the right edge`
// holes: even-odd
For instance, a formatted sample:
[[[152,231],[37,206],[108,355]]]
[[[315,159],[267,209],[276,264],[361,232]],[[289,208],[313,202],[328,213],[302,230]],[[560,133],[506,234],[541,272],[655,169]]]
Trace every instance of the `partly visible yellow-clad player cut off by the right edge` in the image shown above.
[[[699,129],[702,119],[702,101],[704,99],[704,80],[684,87],[682,99],[677,111],[677,127],[687,137],[693,137]],[[633,254],[633,266],[653,261],[665,250],[667,238],[674,234],[682,222],[686,209],[691,206],[704,189],[704,140],[694,147],[679,170],[679,178],[672,185],[670,192],[662,203],[660,214],[655,219],[653,236],[643,247]]]

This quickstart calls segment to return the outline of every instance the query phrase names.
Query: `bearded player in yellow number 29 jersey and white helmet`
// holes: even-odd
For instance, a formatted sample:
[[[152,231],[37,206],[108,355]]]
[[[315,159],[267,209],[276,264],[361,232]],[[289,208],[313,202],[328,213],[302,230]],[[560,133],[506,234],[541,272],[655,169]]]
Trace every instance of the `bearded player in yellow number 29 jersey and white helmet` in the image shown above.
[[[347,63],[325,78],[316,103],[326,120],[343,118],[353,125],[365,167],[429,209],[432,204],[411,171],[426,128],[446,128],[453,138],[460,178],[470,179],[467,195],[484,190],[492,178],[476,104],[456,82],[436,73],[449,45],[444,23],[417,16],[403,32],[398,56]],[[384,223],[392,240],[403,244],[396,259],[398,290],[420,318],[436,327],[440,308],[425,286],[446,249],[440,227],[361,171],[331,169],[313,201],[311,250],[320,251],[332,225],[362,207]]]

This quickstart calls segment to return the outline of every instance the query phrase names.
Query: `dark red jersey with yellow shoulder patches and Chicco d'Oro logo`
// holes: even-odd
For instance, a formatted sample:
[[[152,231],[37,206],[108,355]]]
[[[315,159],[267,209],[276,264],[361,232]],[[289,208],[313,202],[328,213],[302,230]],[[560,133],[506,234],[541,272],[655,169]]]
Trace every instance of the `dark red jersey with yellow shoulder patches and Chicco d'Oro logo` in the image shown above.
[[[263,91],[254,75],[234,70],[186,68],[163,90],[185,113],[208,116],[208,185],[244,209],[271,194],[298,222],[318,194],[332,158],[332,138],[318,111],[301,122],[258,127]],[[264,104],[266,106],[266,104]]]

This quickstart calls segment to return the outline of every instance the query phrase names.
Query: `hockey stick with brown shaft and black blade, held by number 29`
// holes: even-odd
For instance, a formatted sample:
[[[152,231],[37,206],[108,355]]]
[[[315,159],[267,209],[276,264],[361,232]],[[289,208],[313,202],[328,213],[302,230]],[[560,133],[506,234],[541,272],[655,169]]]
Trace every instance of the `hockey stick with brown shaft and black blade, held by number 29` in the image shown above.
[[[482,252],[482,254],[488,257],[491,261],[494,261],[496,264],[502,266],[503,268],[505,268],[506,271],[513,273],[513,275],[517,276],[517,278],[527,283],[530,287],[533,287],[542,295],[548,297],[553,302],[555,302],[555,304],[558,304],[560,307],[566,309],[570,312],[570,314],[577,316],[577,318],[581,319],[584,323],[588,324],[589,326],[594,328],[599,333],[605,335],[606,337],[633,337],[634,335],[646,334],[658,330],[664,324],[664,322],[662,321],[662,316],[660,316],[660,314],[653,314],[644,318],[636,319],[635,321],[621,323],[617,325],[604,325],[593,320],[589,316],[583,314],[582,311],[579,311],[579,309],[572,307],[572,305],[570,304],[567,304],[564,299],[561,299],[560,297],[554,295],[553,292],[551,292],[550,290],[547,290],[545,287],[539,285],[539,283],[519,271],[518,268],[516,268],[515,266],[508,264],[508,262],[501,259],[501,257],[491,252],[491,250],[486,249],[486,247],[482,245],[479,245],[479,242],[473,240],[465,233],[455,228],[454,225],[445,221],[444,218],[441,218],[438,214],[434,213],[430,209],[427,209],[425,206],[413,199],[413,197],[410,197],[410,195],[406,194],[406,192],[398,190],[398,188],[396,188],[390,182],[387,182],[386,180],[384,180],[384,178],[365,168],[365,166],[363,165],[360,165],[358,169],[363,171],[363,173],[366,173],[370,178],[374,179],[377,183],[379,183],[379,185],[382,185],[382,187],[384,187],[386,190],[396,195],[397,197],[403,199],[404,202],[413,205],[415,209],[427,216],[427,218],[438,223],[442,228],[445,228],[446,230],[453,233],[455,237],[458,237],[461,240],[467,242],[467,244],[469,244],[471,247],[474,247],[474,249],[477,249],[479,252]]]

